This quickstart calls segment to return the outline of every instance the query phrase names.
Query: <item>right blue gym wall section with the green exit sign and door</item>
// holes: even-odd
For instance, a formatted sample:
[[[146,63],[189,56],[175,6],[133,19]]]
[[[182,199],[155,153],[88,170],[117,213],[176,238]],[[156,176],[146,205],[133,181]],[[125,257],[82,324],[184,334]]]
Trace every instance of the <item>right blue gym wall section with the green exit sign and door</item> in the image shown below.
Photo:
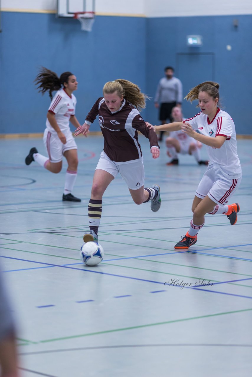
[[[233,20],[238,26],[233,26]],[[189,47],[186,36],[202,35],[201,47]],[[232,46],[227,51],[226,46]],[[235,122],[237,134],[251,135],[252,99],[252,15],[208,16],[208,17],[165,17],[149,18],[147,26],[147,93],[154,96],[159,79],[164,76],[164,67],[173,66],[175,76],[187,79],[192,76],[192,86],[202,81],[215,80],[220,84],[220,98]],[[195,70],[179,72],[181,54],[197,53],[212,55],[213,72],[208,72],[204,64],[195,64]],[[196,59],[195,59],[196,61]],[[201,59],[199,59],[200,63]],[[213,76],[213,77],[212,77]],[[192,87],[191,86],[191,87]],[[191,87],[189,89],[191,89]],[[184,88],[183,97],[188,92]],[[196,103],[189,105],[184,115],[190,117],[198,110]],[[191,107],[191,109],[190,109]],[[188,110],[190,109],[190,110]],[[148,121],[158,122],[158,111],[154,105],[148,106]]]

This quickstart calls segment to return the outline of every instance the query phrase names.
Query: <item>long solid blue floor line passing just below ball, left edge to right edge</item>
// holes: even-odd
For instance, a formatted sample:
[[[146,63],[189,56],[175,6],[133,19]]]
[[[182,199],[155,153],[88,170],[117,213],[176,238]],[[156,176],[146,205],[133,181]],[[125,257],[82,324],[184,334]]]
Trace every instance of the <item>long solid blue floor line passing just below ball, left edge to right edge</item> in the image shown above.
[[[105,272],[102,272],[102,271],[86,270],[85,268],[68,267],[68,266],[64,266],[64,265],[51,264],[51,263],[45,263],[45,262],[36,262],[36,261],[30,261],[30,260],[27,260],[27,259],[20,259],[20,258],[14,258],[14,257],[6,257],[6,256],[3,256],[3,255],[0,255],[0,257],[7,258],[7,259],[15,259],[17,261],[24,261],[24,262],[31,262],[31,263],[38,263],[38,264],[46,264],[46,265],[49,265],[51,267],[63,267],[63,268],[70,268],[71,270],[93,272],[93,273],[96,273],[96,274],[102,274],[102,275],[114,276],[114,277],[123,277],[125,279],[138,280],[138,281],[143,281],[143,282],[148,282],[148,283],[155,283],[155,284],[162,284],[162,285],[164,284],[164,282],[158,282],[158,281],[155,281],[155,280],[147,280],[147,279],[140,279],[139,277],[131,277],[131,276],[124,276],[124,275],[110,274],[110,273],[105,273]],[[244,280],[244,279],[240,279],[240,280]],[[235,280],[235,281],[239,281],[239,280]],[[230,282],[232,282],[232,280],[230,280]],[[186,288],[188,288],[188,289],[196,289],[196,290],[203,290],[201,288],[193,288],[193,287],[186,287]],[[210,291],[210,290],[203,290],[203,291],[224,294],[223,292],[218,292],[218,291]],[[242,296],[242,295],[233,294],[233,293],[227,293],[227,294],[229,296],[252,298],[252,297],[249,297],[249,296]]]

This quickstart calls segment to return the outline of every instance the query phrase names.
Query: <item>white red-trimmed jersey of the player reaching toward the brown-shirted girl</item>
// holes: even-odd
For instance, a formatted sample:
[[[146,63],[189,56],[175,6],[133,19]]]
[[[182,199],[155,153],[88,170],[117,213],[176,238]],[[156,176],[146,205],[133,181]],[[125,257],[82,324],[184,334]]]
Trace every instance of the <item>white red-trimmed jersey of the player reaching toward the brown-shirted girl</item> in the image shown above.
[[[185,122],[189,123],[193,129],[198,130],[202,135],[212,138],[226,136],[226,140],[220,148],[206,146],[210,159],[209,165],[211,163],[218,165],[224,176],[229,179],[236,179],[242,176],[241,164],[237,155],[235,124],[228,113],[218,108],[212,122],[202,112],[196,114],[193,118],[185,120]]]

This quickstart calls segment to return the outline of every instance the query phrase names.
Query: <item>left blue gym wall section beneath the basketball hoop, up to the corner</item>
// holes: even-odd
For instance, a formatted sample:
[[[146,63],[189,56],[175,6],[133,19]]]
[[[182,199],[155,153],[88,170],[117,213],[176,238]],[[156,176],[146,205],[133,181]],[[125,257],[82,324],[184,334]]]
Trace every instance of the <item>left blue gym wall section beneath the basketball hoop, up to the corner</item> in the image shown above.
[[[76,75],[76,116],[81,124],[107,81],[125,78],[146,91],[146,21],[97,16],[93,31],[85,32],[72,18],[2,12],[0,133],[45,129],[50,99],[33,82],[40,66],[58,75],[68,70]],[[100,130],[98,122],[92,130]]]

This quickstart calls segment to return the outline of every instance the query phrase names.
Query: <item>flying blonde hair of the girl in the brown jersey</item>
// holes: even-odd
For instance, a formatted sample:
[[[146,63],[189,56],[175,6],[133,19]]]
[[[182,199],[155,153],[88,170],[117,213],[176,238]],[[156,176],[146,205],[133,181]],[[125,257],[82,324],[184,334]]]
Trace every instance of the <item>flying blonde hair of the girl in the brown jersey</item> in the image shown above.
[[[103,87],[103,95],[117,92],[118,96],[123,96],[125,100],[132,103],[138,111],[145,108],[146,99],[149,97],[141,93],[141,89],[131,81],[119,78],[114,81],[108,81]]]

